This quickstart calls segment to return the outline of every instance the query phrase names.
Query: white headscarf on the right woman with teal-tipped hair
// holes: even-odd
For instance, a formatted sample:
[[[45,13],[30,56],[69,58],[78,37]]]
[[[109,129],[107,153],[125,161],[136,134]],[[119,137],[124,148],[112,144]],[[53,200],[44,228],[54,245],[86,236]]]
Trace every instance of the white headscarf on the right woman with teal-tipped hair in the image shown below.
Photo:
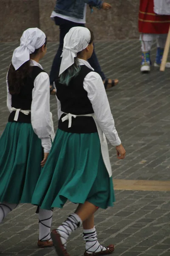
[[[91,40],[91,32],[85,27],[73,27],[65,35],[62,49],[62,61],[59,70],[61,75],[68,67],[74,63],[77,52],[84,50]]]

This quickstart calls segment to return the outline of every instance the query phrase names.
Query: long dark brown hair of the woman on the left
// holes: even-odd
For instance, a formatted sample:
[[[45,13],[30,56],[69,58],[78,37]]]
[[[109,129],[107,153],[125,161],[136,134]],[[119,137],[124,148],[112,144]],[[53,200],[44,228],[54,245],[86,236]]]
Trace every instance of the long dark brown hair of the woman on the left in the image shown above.
[[[47,44],[47,38],[45,38],[45,45]],[[40,47],[41,48],[41,47]],[[37,55],[39,49],[35,49],[35,51],[31,55]],[[26,61],[19,69],[15,70],[14,66],[11,64],[8,70],[8,89],[10,94],[19,94],[20,89],[23,86],[24,79],[27,76],[30,76],[32,67],[30,66],[30,60]]]

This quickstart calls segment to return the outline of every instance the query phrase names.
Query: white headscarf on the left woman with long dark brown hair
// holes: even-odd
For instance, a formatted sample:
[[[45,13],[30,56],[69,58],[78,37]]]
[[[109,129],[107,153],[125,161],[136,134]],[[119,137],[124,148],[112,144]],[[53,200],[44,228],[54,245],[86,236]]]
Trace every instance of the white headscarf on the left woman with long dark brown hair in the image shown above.
[[[27,29],[20,38],[20,46],[12,55],[12,64],[17,70],[21,65],[30,59],[30,54],[45,44],[45,33],[38,28]]]

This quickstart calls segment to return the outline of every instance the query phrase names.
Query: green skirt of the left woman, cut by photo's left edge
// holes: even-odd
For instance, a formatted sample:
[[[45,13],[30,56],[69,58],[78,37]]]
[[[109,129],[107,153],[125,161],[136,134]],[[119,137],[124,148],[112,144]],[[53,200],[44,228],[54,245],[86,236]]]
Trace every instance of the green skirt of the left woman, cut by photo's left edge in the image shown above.
[[[43,149],[31,124],[8,122],[0,137],[0,202],[31,203]]]

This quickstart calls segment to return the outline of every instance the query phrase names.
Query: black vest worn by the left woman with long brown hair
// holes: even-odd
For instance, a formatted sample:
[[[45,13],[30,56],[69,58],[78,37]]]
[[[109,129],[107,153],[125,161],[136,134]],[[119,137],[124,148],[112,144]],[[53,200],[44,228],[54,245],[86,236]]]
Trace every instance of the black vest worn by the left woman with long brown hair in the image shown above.
[[[23,110],[31,110],[32,90],[34,88],[34,80],[41,72],[45,72],[38,66],[32,66],[31,69],[32,70],[31,70],[30,76],[24,79],[23,86],[20,89],[20,93],[11,95],[12,108],[21,108]],[[15,122],[14,121],[15,113],[16,111],[11,112],[8,118],[8,122]],[[29,113],[27,116],[24,113],[20,112],[17,122],[31,123],[31,113]]]

